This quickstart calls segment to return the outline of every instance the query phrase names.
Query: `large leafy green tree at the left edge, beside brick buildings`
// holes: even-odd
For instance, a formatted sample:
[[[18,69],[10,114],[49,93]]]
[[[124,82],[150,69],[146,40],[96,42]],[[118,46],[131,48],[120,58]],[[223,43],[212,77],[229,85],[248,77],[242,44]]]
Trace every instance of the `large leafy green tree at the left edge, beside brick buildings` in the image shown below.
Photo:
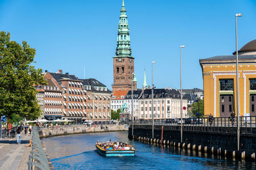
[[[0,32],[0,115],[12,114],[33,120],[40,116],[33,85],[45,85],[42,69],[35,63],[36,50],[26,41],[10,41],[10,33]]]

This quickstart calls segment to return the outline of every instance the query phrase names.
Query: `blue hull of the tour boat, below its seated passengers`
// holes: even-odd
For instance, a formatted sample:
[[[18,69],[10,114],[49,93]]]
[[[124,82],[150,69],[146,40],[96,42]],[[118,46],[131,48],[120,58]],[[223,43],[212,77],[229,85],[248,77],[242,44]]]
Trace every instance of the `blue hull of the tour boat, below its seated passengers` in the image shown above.
[[[135,150],[104,150],[99,145],[95,145],[97,152],[104,157],[127,157],[134,156]]]

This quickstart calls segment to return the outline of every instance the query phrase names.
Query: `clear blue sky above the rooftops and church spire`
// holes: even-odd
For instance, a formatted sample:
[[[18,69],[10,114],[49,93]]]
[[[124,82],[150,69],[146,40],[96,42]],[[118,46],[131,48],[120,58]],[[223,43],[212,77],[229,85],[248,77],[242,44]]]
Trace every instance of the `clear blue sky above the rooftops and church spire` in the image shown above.
[[[0,1],[0,31],[11,39],[28,41],[36,49],[36,67],[96,78],[111,89],[118,19],[122,0]],[[151,62],[157,88],[179,89],[179,46],[182,86],[203,88],[199,59],[231,55],[256,39],[256,1],[125,0],[138,88],[144,67],[151,84]]]

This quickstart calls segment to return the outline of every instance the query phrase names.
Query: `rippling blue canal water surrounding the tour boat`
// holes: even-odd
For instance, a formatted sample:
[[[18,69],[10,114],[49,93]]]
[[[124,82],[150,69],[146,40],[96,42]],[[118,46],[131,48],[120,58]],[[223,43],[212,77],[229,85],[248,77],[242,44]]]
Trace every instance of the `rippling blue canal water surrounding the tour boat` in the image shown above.
[[[127,132],[76,134],[42,139],[54,169],[255,169],[254,162],[200,155],[177,148],[149,145],[127,138]],[[99,141],[122,141],[136,148],[134,157],[102,157]]]

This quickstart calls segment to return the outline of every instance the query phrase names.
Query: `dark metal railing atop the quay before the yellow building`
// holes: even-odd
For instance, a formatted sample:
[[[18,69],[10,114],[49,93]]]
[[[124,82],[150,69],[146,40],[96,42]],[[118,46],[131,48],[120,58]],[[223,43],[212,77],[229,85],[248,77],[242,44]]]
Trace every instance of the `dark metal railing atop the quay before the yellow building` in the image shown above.
[[[180,130],[180,118],[155,119],[154,128]],[[215,117],[215,118],[183,118],[183,131],[218,132],[233,134],[237,132],[237,117]],[[129,122],[131,127],[131,121]],[[149,127],[152,120],[134,120],[136,127]],[[241,134],[256,135],[256,117],[240,117]]]

